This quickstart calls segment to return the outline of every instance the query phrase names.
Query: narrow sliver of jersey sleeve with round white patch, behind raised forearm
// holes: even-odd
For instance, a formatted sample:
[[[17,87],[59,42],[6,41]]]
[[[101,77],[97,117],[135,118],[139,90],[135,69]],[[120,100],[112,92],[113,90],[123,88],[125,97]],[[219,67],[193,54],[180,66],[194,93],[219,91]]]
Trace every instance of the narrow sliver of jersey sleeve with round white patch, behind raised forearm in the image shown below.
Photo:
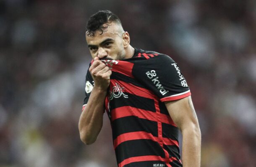
[[[88,68],[87,73],[86,73],[86,78],[85,78],[85,97],[84,97],[82,111],[84,110],[84,108],[89,100],[93,86],[94,86],[94,81],[93,81],[93,78],[92,78],[91,73]]]

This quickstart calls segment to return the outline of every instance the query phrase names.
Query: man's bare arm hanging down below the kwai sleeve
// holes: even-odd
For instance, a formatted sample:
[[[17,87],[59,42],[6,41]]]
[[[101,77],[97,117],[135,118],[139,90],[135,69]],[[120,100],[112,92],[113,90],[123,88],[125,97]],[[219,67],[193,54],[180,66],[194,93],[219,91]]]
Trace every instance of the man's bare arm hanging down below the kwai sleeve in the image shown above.
[[[191,96],[167,101],[165,106],[183,136],[183,167],[200,167],[201,132]]]

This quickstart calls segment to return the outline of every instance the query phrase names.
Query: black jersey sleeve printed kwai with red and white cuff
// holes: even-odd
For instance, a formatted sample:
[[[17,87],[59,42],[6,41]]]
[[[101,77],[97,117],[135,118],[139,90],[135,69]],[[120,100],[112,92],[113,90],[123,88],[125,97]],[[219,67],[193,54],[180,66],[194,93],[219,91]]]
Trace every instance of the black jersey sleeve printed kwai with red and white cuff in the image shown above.
[[[183,99],[191,95],[178,64],[167,55],[136,62],[133,76],[153,91],[162,102]]]

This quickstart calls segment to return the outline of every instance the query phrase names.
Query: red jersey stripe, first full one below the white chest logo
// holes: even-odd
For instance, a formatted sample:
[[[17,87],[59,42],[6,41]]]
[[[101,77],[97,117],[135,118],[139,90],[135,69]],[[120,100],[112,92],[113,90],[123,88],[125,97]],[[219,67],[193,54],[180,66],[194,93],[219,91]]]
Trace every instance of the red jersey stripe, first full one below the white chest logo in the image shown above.
[[[123,118],[125,116],[138,116],[138,118],[148,119],[150,121],[157,121],[157,118],[160,117],[161,119],[159,120],[162,123],[170,124],[176,127],[171,117],[165,114],[146,111],[131,106],[123,106],[111,110],[111,121],[114,121],[118,118]]]

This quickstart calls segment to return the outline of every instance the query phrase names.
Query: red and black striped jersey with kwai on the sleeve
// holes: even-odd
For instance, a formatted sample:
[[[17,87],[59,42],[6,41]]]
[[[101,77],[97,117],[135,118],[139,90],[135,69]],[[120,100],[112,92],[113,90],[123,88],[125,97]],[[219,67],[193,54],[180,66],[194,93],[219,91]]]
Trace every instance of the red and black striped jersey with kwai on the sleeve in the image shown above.
[[[102,61],[112,71],[105,110],[118,167],[182,167],[178,127],[164,104],[191,95],[177,63],[141,49],[132,58]],[[88,70],[83,106],[93,85]]]

